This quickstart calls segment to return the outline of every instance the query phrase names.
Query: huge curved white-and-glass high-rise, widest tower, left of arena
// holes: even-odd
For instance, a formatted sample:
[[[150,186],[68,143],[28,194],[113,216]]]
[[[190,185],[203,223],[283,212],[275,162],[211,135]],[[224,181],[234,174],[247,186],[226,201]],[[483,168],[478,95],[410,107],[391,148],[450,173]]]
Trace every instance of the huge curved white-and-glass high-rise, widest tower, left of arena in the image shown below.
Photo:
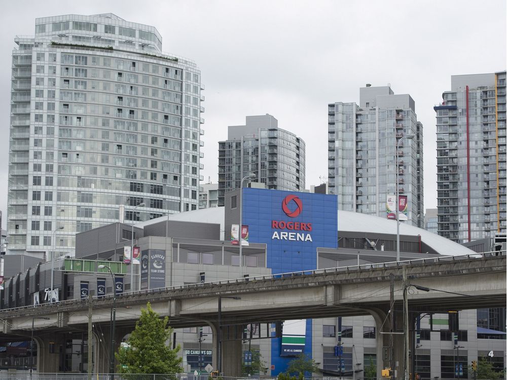
[[[39,18],[15,43],[9,251],[72,254],[77,232],[198,208],[194,62],[113,14]]]

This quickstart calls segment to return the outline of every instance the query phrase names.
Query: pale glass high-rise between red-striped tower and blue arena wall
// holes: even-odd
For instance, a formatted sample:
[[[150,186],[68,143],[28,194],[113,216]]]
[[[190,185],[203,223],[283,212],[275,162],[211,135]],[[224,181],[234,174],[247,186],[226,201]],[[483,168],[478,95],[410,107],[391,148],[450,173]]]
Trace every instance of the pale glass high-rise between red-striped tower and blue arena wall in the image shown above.
[[[387,217],[388,195],[408,197],[408,221],[422,227],[423,149],[422,124],[408,94],[395,95],[389,86],[366,85],[359,105],[328,105],[329,193],[338,195],[338,208]],[[396,165],[396,147],[400,144]]]

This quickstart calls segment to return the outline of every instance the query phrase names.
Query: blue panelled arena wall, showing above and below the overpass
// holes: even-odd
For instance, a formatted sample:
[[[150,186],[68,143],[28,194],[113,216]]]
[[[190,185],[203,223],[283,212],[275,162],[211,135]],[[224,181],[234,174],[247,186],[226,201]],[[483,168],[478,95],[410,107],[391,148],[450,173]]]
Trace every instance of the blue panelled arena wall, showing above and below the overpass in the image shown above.
[[[259,188],[242,191],[242,224],[248,225],[250,242],[267,245],[267,267],[273,274],[317,269],[317,247],[338,247],[336,196]],[[276,368],[272,375],[286,368],[291,353],[311,356],[311,320],[303,322],[297,334],[285,330],[284,326],[284,344],[283,338],[271,339],[271,363]],[[305,338],[296,339],[300,334]]]

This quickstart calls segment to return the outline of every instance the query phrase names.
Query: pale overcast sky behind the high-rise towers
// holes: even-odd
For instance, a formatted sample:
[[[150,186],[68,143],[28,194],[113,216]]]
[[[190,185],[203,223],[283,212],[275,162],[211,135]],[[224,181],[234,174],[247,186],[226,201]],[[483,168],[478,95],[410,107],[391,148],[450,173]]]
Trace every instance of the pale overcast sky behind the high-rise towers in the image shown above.
[[[306,142],[306,187],[327,177],[328,103],[359,103],[359,87],[391,85],[415,100],[424,135],[424,207],[437,204],[433,105],[451,75],[506,67],[505,0],[5,1],[0,16],[0,210],[7,219],[11,54],[35,18],[115,13],[155,26],[163,51],[199,66],[204,182],[218,180],[218,141],[247,115],[270,113]]]

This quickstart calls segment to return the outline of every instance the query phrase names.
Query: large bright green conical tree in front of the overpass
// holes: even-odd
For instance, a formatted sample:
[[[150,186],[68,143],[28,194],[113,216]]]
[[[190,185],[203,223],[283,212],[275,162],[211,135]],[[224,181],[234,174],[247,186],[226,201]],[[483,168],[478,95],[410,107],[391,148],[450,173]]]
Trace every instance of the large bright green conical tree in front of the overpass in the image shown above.
[[[160,319],[150,302],[146,309],[141,309],[141,316],[127,340],[130,348],[120,348],[115,354],[120,363],[119,373],[172,374],[183,371],[180,366],[183,358],[177,356],[180,346],[173,350],[166,345],[173,331],[167,326],[168,322],[169,317]]]

